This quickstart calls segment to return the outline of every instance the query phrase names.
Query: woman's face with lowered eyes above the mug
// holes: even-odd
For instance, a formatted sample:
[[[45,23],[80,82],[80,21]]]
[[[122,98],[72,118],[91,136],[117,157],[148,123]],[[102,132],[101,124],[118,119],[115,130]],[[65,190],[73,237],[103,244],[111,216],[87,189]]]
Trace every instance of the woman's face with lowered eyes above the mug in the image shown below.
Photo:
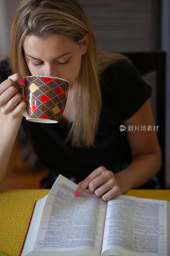
[[[78,76],[81,57],[87,51],[89,33],[81,46],[67,36],[48,35],[46,39],[26,36],[23,44],[25,59],[32,76],[55,76],[69,82]]]

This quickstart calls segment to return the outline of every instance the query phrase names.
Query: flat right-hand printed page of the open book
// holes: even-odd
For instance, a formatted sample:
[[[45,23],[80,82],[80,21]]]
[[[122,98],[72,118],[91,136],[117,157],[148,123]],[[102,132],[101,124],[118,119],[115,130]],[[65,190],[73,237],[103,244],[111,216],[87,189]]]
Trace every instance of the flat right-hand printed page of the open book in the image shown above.
[[[102,253],[166,256],[166,202],[123,195],[108,200]]]

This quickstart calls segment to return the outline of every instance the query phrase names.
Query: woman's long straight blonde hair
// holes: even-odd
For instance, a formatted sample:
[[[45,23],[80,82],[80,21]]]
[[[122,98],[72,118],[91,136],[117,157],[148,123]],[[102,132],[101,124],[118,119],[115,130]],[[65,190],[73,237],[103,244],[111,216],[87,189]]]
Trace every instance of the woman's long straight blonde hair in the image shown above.
[[[12,22],[8,56],[13,74],[31,76],[23,50],[26,36],[68,36],[81,44],[86,32],[90,33],[89,44],[74,82],[74,120],[63,142],[71,140],[74,147],[88,148],[94,147],[99,124],[102,105],[100,73],[112,63],[126,60],[132,64],[132,61],[123,54],[98,49],[94,32],[77,0],[22,0]]]

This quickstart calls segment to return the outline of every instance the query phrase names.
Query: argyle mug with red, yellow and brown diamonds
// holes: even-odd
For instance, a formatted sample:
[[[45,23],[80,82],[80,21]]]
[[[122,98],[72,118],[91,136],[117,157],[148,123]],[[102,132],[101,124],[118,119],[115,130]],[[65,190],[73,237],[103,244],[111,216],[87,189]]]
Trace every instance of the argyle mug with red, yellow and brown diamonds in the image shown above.
[[[67,102],[69,82],[52,76],[26,76],[21,89],[27,106],[22,115],[28,121],[58,123]]]

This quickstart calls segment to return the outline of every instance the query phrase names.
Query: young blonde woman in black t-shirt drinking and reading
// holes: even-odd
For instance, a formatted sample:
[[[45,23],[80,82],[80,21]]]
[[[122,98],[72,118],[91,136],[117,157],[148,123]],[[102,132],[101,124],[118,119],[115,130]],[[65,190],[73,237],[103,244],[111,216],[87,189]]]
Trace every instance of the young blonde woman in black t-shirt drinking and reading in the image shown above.
[[[77,0],[22,0],[0,70],[0,180],[22,125],[49,169],[40,188],[51,188],[59,173],[74,178],[79,194],[88,187],[103,200],[144,184],[159,188],[154,176],[161,167],[157,133],[141,129],[155,125],[152,87],[126,56],[98,49]],[[29,75],[69,81],[59,123],[33,123],[21,115],[26,102],[18,86]]]

